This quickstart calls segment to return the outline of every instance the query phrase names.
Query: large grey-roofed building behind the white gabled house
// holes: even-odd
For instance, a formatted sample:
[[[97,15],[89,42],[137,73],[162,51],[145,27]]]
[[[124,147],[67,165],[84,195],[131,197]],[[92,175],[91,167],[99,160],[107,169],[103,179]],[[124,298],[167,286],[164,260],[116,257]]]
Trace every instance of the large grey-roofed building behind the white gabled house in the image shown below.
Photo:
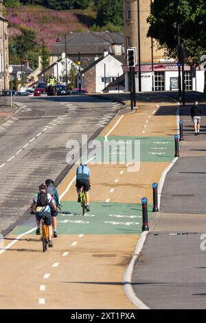
[[[70,32],[66,39],[56,42],[49,64],[59,60],[62,52],[66,51],[67,57],[73,62],[78,61],[80,53],[81,67],[84,69],[100,58],[103,52],[120,56],[124,54],[124,36],[118,32]]]

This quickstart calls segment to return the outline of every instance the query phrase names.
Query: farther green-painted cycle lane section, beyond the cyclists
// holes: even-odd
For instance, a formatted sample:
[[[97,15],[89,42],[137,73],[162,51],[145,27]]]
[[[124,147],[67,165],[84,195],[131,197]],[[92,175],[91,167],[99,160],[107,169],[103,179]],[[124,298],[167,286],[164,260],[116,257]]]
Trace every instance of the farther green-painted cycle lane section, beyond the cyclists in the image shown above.
[[[110,136],[107,141],[104,137],[98,137],[98,141],[102,143],[102,148],[98,150],[98,157],[93,162],[126,159],[127,162],[170,163],[174,159],[174,137]]]

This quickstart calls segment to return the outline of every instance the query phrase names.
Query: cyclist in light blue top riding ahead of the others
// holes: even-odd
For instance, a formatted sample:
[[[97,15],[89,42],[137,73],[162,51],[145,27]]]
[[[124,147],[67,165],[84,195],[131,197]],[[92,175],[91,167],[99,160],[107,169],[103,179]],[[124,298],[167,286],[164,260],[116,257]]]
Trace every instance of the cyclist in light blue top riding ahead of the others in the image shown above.
[[[76,170],[76,190],[78,192],[78,203],[81,201],[81,190],[84,188],[87,205],[86,211],[89,212],[89,188],[91,187],[91,171],[86,163],[81,163]]]

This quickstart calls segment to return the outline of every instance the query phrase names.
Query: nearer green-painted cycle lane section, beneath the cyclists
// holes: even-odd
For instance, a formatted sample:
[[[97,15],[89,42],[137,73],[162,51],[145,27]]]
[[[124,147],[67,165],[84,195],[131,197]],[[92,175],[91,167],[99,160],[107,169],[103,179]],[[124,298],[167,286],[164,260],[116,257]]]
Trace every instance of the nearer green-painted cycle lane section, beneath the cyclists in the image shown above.
[[[91,203],[91,212],[82,216],[80,204],[62,201],[58,214],[58,234],[141,234],[142,208],[135,203]],[[152,205],[148,204],[148,219]],[[16,227],[12,234],[22,234],[35,226],[34,217]],[[35,234],[35,232],[33,233]]]

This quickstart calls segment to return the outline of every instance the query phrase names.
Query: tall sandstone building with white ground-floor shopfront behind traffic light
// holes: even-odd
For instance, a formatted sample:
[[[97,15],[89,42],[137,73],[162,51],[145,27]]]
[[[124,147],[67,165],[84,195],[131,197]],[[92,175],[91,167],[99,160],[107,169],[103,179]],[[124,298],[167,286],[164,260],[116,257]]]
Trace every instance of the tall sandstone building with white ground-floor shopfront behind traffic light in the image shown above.
[[[139,3],[139,8],[138,8]],[[142,91],[175,91],[178,89],[178,67],[176,60],[164,56],[157,43],[147,37],[147,18],[150,14],[151,0],[124,0],[124,44],[125,49],[137,48],[137,65],[135,66],[135,85],[139,90],[138,36],[141,52],[141,90]],[[138,10],[139,9],[139,10]],[[138,15],[139,12],[139,15]],[[138,16],[139,35],[138,35]],[[126,91],[129,91],[129,68],[125,64]],[[185,89],[203,91],[204,71],[196,68],[196,78],[191,77],[190,67],[185,66]]]

